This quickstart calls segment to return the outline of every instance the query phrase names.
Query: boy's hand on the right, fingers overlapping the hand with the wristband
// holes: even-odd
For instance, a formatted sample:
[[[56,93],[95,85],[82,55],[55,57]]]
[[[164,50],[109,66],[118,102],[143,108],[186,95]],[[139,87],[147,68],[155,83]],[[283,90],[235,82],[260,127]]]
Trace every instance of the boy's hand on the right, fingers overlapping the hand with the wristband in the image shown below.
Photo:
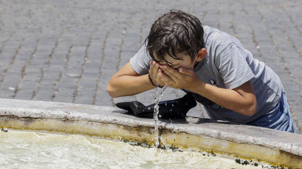
[[[162,72],[158,72],[159,77],[171,88],[191,90],[199,80],[191,69],[180,67],[176,70],[168,65],[160,65],[159,67],[162,69]]]

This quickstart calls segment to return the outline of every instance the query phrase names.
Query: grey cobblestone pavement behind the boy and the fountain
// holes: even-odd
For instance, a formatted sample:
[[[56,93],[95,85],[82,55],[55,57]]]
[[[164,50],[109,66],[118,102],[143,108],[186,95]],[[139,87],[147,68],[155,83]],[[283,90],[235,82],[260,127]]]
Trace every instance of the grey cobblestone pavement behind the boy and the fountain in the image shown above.
[[[154,90],[112,99],[110,77],[160,14],[178,9],[238,38],[281,78],[302,132],[302,1],[0,0],[0,97],[114,106],[153,103]],[[169,89],[162,100],[182,97]],[[208,118],[202,105],[188,115]]]

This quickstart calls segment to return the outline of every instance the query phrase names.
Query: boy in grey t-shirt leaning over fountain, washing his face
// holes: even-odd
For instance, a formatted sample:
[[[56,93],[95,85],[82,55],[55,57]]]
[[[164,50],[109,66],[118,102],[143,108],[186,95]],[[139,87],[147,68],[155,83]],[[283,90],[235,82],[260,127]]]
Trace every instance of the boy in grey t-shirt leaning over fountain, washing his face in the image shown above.
[[[113,75],[107,91],[122,97],[165,84],[191,92],[212,119],[295,133],[278,75],[237,38],[183,11],[155,21],[145,45]]]

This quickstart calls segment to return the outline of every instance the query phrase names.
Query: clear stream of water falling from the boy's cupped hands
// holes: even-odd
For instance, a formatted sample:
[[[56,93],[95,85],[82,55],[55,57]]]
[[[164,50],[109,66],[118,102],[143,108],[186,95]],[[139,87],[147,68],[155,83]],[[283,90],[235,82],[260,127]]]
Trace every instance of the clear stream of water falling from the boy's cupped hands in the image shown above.
[[[154,123],[155,123],[155,147],[159,146],[159,136],[158,136],[158,112],[159,112],[159,100],[162,98],[162,94],[164,93],[165,89],[167,88],[167,85],[164,86],[160,94],[158,95],[158,86],[155,89],[155,95],[154,95],[154,100],[155,100],[155,106],[154,106]],[[169,147],[169,146],[168,146]]]

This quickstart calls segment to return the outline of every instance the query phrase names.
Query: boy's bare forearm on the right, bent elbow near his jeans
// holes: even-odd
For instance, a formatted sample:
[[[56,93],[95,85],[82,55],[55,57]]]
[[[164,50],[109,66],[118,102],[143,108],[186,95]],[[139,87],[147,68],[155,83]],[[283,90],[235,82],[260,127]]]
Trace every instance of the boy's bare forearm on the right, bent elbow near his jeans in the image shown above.
[[[255,113],[251,111],[253,106],[251,102],[232,89],[218,88],[199,80],[192,86],[191,91],[240,114],[253,115]]]

